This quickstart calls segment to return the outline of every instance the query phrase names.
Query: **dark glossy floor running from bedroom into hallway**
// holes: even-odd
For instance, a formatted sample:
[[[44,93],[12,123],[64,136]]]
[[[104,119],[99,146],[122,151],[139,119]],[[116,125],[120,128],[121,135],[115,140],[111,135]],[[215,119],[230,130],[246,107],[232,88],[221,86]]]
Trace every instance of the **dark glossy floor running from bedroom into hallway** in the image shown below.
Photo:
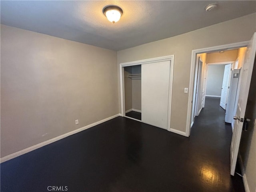
[[[4,162],[1,192],[243,192],[218,103],[206,98],[189,138],[118,117]]]

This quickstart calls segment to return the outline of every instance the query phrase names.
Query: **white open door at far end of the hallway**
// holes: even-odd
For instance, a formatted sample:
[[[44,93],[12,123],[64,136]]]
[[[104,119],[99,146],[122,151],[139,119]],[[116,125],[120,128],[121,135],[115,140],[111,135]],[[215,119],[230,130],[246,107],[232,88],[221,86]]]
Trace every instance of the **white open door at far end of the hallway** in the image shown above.
[[[230,83],[230,73],[231,73],[231,65],[225,65],[224,75],[223,75],[223,82],[221,88],[221,95],[220,95],[220,106],[223,109],[226,109],[226,104],[228,100],[228,89]]]

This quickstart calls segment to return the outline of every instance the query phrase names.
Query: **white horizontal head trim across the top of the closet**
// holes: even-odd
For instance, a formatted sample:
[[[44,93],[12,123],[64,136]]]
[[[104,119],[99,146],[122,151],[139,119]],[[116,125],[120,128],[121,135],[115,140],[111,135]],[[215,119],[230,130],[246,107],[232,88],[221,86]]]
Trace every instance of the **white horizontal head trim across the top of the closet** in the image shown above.
[[[161,62],[161,61],[170,61],[173,58],[174,58],[174,55],[168,55],[168,56],[163,56],[163,57],[156,57],[156,58],[120,63],[120,67],[142,65],[142,64],[148,64],[148,63],[156,63],[156,62]]]

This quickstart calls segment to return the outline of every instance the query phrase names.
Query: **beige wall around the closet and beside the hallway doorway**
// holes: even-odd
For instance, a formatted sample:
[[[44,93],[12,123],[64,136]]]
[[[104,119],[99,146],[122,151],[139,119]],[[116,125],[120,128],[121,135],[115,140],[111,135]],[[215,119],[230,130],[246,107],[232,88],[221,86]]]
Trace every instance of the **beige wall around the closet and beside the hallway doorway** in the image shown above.
[[[188,94],[184,93],[184,88],[189,86],[192,50],[250,40],[256,30],[255,18],[256,14],[250,14],[186,34],[118,51],[118,67],[119,63],[123,62],[174,54],[171,128],[185,132]]]

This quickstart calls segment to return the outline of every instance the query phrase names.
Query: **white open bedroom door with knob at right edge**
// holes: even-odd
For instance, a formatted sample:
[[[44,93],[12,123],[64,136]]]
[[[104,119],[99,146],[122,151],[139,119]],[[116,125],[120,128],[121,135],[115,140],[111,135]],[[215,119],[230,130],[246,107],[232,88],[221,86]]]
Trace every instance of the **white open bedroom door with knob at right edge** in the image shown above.
[[[246,50],[246,56],[244,58],[244,66],[240,71],[240,78],[238,83],[238,104],[236,110],[236,122],[234,123],[234,131],[230,146],[230,174],[234,175],[236,168],[236,160],[238,156],[238,149],[242,134],[244,114],[246,110],[246,104],[248,99],[248,93],[250,88],[250,82],[252,78],[252,69],[254,65],[254,58],[256,54],[256,33],[254,33],[252,39]],[[240,85],[240,86],[239,86]]]

